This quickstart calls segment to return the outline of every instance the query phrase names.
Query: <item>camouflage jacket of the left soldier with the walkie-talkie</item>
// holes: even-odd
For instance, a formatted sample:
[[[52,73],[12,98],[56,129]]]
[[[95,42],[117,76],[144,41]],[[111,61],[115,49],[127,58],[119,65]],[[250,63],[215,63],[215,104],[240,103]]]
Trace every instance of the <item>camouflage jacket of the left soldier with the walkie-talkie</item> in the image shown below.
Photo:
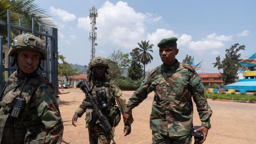
[[[16,71],[8,79],[5,92],[19,81],[22,79],[17,76]],[[39,73],[30,75],[24,83],[21,96],[26,100],[26,105],[20,117],[10,116],[14,100],[22,86],[23,83],[7,92],[0,102],[1,126],[5,123],[5,127],[1,127],[4,129],[1,133],[2,143],[12,141],[11,143],[24,142],[24,144],[40,142],[61,144],[63,121],[56,101],[56,93],[49,81]],[[12,135],[5,135],[6,132]]]

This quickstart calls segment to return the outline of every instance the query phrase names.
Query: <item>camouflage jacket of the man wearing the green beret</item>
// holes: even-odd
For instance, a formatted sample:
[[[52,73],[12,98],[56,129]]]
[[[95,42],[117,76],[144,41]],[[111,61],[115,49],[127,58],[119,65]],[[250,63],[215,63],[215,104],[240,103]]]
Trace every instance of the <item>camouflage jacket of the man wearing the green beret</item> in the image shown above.
[[[152,70],[147,78],[129,99],[126,113],[147,98],[154,90],[154,103],[150,115],[150,129],[163,135],[189,135],[193,129],[193,100],[202,126],[211,127],[212,111],[204,95],[204,86],[197,72],[191,66],[179,63],[160,65]]]

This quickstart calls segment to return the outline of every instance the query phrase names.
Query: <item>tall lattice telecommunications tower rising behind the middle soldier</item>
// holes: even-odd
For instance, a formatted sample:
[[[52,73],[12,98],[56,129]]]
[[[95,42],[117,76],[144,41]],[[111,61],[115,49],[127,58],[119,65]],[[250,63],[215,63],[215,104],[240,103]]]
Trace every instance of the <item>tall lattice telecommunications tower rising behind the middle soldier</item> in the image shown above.
[[[97,30],[96,18],[98,17],[98,11],[93,6],[92,9],[89,9],[89,17],[91,19],[91,31],[89,32],[89,41],[91,41],[91,59],[95,57],[95,46],[98,45],[95,41],[97,40]]]

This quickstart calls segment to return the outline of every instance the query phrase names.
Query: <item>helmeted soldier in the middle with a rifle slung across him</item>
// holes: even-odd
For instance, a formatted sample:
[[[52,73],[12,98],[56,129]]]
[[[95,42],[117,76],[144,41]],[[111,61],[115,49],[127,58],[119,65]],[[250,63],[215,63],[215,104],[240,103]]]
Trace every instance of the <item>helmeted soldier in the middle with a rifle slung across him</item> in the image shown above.
[[[96,96],[96,90],[99,90],[100,92],[105,90],[105,101],[108,103],[108,110],[105,111],[104,114],[107,116],[111,126],[114,129],[114,127],[119,124],[121,120],[121,113],[124,114],[124,109],[126,107],[126,100],[122,94],[122,90],[119,88],[117,83],[115,83],[115,81],[106,77],[106,74],[108,74],[107,69],[109,69],[109,65],[108,61],[104,57],[95,57],[91,59],[89,69],[91,70],[89,83],[92,90],[92,95],[94,97]],[[83,99],[83,102],[85,101],[86,95]],[[116,103],[118,107],[116,106]],[[86,113],[85,121],[86,127],[89,131],[90,144],[110,144],[111,137],[104,133],[104,130],[100,127],[100,122],[98,119],[96,119],[96,115],[93,114],[91,107],[85,107],[83,104],[81,104],[75,111],[72,118],[72,124],[76,127],[75,123],[78,117],[81,117],[83,113]],[[131,122],[125,125],[124,136],[130,133]]]

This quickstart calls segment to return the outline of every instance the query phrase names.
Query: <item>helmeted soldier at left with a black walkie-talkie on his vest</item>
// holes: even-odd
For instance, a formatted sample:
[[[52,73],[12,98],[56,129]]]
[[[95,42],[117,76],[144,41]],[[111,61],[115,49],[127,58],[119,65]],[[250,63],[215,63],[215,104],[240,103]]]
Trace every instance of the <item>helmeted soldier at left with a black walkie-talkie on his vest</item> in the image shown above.
[[[18,35],[8,56],[17,70],[7,80],[0,102],[1,144],[61,144],[63,121],[56,92],[37,72],[46,60],[43,41],[34,35]]]

